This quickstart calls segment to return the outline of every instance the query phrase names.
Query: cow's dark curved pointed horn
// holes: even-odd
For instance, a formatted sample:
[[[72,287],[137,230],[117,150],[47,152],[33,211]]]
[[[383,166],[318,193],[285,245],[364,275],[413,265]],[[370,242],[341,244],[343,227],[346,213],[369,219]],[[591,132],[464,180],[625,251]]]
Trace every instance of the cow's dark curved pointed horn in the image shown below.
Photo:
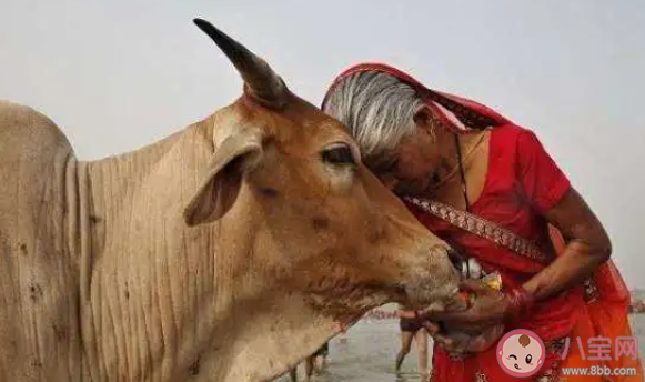
[[[193,22],[206,33],[238,69],[251,96],[261,103],[280,108],[285,103],[286,87],[269,64],[203,19]]]

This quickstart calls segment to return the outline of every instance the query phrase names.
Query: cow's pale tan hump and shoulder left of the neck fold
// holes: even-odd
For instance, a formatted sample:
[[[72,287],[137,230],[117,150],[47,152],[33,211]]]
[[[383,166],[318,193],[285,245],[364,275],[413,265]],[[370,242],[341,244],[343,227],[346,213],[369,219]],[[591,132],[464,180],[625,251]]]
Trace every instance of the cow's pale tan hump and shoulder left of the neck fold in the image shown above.
[[[80,378],[78,163],[53,123],[0,102],[2,381]]]

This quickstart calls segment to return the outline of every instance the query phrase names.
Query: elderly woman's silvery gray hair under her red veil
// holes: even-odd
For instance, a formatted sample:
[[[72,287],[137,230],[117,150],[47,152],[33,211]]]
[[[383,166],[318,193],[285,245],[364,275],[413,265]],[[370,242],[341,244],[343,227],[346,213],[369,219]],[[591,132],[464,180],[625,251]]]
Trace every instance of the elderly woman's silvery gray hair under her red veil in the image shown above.
[[[323,111],[345,124],[364,158],[379,158],[416,131],[414,114],[423,100],[394,76],[363,71],[342,80]]]

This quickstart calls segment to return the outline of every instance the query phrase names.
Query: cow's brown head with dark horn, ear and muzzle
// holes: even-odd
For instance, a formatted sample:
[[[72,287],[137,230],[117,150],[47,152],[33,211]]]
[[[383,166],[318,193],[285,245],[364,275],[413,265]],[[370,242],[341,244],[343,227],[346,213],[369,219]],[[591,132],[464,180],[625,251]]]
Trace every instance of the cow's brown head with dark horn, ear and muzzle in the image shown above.
[[[246,270],[341,321],[385,302],[453,296],[449,245],[361,163],[345,127],[230,37],[195,23],[241,73],[244,97],[213,115],[214,153],[185,222],[251,221],[258,269]]]

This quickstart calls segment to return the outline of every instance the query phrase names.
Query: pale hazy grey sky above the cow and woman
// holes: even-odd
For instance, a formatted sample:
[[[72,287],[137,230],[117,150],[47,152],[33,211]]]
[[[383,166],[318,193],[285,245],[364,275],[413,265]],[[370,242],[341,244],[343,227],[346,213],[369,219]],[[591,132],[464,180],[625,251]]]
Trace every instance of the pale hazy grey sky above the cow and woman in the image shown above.
[[[3,0],[0,99],[53,119],[81,160],[152,143],[241,93],[194,17],[316,105],[339,71],[383,61],[533,129],[645,286],[645,2]]]

